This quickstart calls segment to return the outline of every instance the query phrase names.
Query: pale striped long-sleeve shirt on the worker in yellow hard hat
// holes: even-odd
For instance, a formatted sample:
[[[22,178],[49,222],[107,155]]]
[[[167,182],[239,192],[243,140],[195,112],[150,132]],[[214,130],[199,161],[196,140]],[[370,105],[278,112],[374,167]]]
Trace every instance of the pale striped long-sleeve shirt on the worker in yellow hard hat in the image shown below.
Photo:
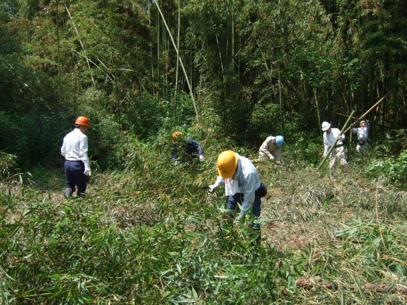
[[[225,195],[233,196],[236,193],[244,195],[240,215],[251,208],[254,202],[254,192],[260,187],[260,177],[257,170],[249,159],[239,156],[238,166],[235,175],[231,178],[224,179],[218,176],[215,182],[215,188],[225,185]]]

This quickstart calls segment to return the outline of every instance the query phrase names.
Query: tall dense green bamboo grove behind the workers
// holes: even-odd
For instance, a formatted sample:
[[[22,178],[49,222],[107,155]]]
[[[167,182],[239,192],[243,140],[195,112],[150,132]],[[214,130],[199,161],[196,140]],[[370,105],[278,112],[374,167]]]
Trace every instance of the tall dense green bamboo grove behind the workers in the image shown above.
[[[387,93],[368,117],[373,137],[407,124],[404,1],[7,0],[0,10],[3,126],[56,140],[88,113],[141,138],[195,121],[245,143],[264,126],[318,134],[321,120],[343,124]],[[0,148],[36,158],[34,140],[1,137]]]

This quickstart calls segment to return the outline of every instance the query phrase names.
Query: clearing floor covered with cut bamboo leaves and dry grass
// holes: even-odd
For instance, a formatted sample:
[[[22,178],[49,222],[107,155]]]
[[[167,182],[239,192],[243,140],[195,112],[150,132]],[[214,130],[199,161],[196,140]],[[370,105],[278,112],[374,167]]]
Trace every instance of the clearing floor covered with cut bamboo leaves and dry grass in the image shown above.
[[[62,196],[61,171],[1,182],[0,303],[407,301],[407,192],[362,163],[333,179],[255,162],[269,190],[257,247],[248,225],[221,219],[223,190],[196,188],[214,182],[216,155],[174,166],[140,149],[93,173],[86,198]]]

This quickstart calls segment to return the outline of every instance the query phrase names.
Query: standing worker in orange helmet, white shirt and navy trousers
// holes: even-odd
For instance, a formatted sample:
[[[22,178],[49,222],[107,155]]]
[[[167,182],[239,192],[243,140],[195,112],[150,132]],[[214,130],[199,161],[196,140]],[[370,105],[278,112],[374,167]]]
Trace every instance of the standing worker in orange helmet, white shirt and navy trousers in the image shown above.
[[[75,121],[75,129],[64,137],[61,155],[65,157],[65,175],[67,185],[65,197],[71,197],[78,188],[78,196],[84,196],[86,191],[86,176],[91,175],[91,166],[88,158],[88,133],[89,118],[79,116]]]

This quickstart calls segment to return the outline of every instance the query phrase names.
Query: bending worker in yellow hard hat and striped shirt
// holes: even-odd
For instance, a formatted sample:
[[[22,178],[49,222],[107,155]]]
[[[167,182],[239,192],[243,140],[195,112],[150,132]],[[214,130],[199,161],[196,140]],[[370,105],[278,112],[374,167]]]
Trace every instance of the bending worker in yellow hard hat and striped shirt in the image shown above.
[[[210,192],[225,185],[227,209],[235,210],[237,204],[241,204],[239,216],[235,219],[240,221],[244,214],[253,216],[252,227],[258,231],[256,242],[260,242],[260,217],[261,197],[266,196],[267,188],[261,183],[256,168],[249,159],[239,156],[231,150],[225,150],[218,157],[218,173],[215,184],[209,186]],[[228,214],[230,218],[234,215]]]

